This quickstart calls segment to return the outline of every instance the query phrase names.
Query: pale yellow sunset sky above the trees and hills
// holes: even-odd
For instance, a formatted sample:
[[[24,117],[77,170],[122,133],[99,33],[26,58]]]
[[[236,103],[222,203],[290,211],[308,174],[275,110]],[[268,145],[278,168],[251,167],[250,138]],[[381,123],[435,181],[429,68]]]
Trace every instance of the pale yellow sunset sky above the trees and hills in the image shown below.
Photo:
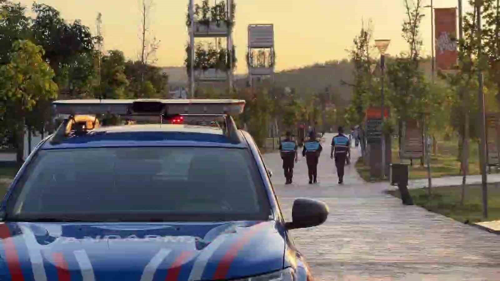
[[[159,66],[178,66],[185,57],[187,0],[154,0],[151,30],[161,40]],[[200,1],[200,0],[195,0]],[[215,1],[215,0],[210,0]],[[424,0],[429,4],[430,0]],[[20,0],[30,6],[32,0]],[[66,20],[81,19],[95,31],[95,17],[102,13],[105,49],[121,49],[136,58],[140,47],[137,0],[36,0],[54,6]],[[466,0],[463,0],[466,2]],[[392,39],[388,53],[406,49],[401,38],[403,0],[236,0],[234,44],[236,72],[247,71],[245,53],[248,24],[273,23],[276,70],[346,57],[345,49],[359,32],[361,19],[371,18],[375,38]],[[457,0],[434,0],[435,7],[455,7]],[[423,51],[430,54],[430,9],[423,21]]]

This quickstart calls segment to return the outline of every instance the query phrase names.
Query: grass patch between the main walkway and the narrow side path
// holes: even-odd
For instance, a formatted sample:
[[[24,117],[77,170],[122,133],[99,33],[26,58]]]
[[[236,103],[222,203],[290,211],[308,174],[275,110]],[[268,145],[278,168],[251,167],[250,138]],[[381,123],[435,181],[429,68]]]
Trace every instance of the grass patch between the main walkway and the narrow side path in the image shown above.
[[[429,211],[443,214],[460,222],[473,223],[484,220],[500,219],[500,185],[488,185],[488,218],[482,217],[482,192],[480,185],[469,185],[465,189],[465,200],[460,205],[460,186],[440,186],[432,189],[432,195],[427,195],[424,188],[409,190],[413,202]],[[398,190],[388,191],[399,197]]]

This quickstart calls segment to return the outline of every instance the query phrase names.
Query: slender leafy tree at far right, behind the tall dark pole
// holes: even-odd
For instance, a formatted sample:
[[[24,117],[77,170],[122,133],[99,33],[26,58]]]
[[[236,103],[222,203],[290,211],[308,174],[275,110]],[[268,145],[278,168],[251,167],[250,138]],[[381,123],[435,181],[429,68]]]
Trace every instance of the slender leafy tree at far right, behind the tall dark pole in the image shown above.
[[[475,0],[468,1],[474,9],[467,12],[463,17],[463,38],[458,41],[458,64],[456,65],[456,73],[443,74],[450,88],[455,92],[452,95],[452,110],[450,116],[451,127],[460,134],[460,169],[463,174],[461,187],[461,203],[465,198],[466,176],[468,172],[468,157],[469,157],[469,138],[477,140],[479,131],[477,126],[469,126],[469,124],[478,123],[479,106],[475,93],[478,90],[476,80],[477,71],[479,68],[485,69],[486,80],[484,88],[484,98],[487,100],[485,105],[489,111],[498,110],[498,99],[500,99],[500,72],[498,61],[500,61],[500,34],[498,28],[499,6],[498,1],[483,0],[477,2]],[[477,40],[477,11],[481,9],[483,17],[486,19],[482,26],[482,46],[483,56],[478,57],[478,40]],[[488,81],[489,80],[489,81]],[[496,89],[495,89],[496,85]],[[492,92],[496,92],[497,100],[491,98]],[[480,159],[481,161],[485,159]],[[483,165],[481,165],[483,166]],[[482,171],[485,172],[485,171]]]

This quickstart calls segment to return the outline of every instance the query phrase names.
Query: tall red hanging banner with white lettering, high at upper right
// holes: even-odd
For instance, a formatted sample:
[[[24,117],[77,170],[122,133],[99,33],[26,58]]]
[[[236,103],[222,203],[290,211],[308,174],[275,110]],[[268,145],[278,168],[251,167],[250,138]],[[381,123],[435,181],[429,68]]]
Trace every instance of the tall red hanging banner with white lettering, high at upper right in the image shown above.
[[[458,57],[456,8],[435,8],[435,60],[438,69],[449,70]]]

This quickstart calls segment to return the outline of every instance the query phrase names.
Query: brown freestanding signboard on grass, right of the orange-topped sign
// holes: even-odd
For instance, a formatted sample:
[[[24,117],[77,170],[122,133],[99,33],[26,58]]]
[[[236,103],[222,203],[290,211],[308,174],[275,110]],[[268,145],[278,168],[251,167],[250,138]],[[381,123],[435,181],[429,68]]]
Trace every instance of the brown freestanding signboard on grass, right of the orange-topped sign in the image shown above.
[[[423,128],[417,120],[403,122],[400,157],[414,159],[423,156]]]

